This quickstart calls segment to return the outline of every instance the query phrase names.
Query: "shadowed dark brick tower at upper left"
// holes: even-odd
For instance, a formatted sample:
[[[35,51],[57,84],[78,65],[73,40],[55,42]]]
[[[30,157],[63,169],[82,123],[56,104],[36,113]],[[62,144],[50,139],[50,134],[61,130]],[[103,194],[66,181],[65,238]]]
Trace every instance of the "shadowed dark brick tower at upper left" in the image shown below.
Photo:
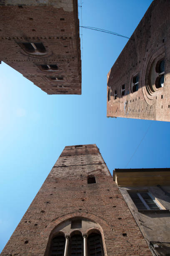
[[[0,60],[47,94],[81,94],[77,0],[0,1]]]

